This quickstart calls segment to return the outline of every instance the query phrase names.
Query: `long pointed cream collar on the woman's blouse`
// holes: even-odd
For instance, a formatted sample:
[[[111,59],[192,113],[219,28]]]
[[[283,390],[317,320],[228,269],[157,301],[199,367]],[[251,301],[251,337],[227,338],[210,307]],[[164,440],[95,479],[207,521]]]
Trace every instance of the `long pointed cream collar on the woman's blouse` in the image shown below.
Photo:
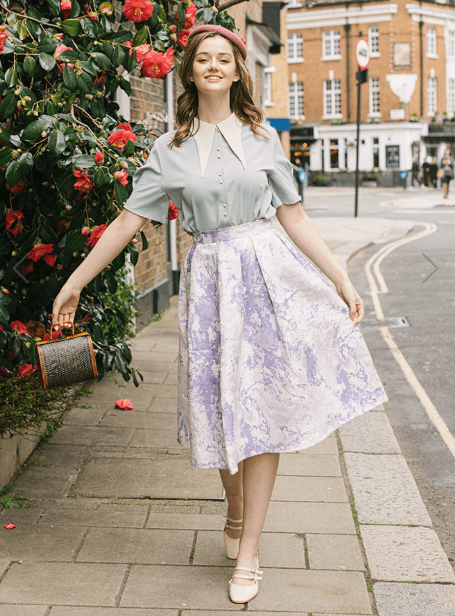
[[[246,169],[245,157],[243,154],[241,140],[242,126],[243,124],[237,118],[235,113],[232,113],[228,118],[226,118],[226,120],[223,120],[216,125],[200,121],[198,120],[198,118],[195,118],[193,120],[193,125],[191,126],[191,133],[193,133],[193,139],[198,146],[199,164],[201,165],[201,177],[204,177],[204,171],[206,170],[206,166],[209,161],[209,156],[212,149],[216,129],[220,131],[222,136],[228,142],[228,145],[233,151],[233,153],[243,164],[243,168]]]

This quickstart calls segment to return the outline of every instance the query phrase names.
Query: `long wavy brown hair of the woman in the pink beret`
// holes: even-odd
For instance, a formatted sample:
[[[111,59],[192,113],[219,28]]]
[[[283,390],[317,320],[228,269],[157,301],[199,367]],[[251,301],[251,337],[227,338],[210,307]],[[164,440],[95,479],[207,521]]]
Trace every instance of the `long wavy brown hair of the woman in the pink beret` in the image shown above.
[[[198,90],[193,81],[190,80],[191,71],[193,70],[193,62],[199,45],[206,39],[212,36],[222,36],[218,32],[206,31],[191,36],[188,40],[187,49],[183,56],[182,63],[177,68],[177,75],[180,77],[182,86],[185,89],[183,94],[180,94],[177,99],[177,114],[175,122],[179,127],[175,132],[174,139],[170,142],[170,147],[176,145],[180,147],[182,141],[190,136],[190,129],[193,120],[198,116]],[[227,41],[229,39],[225,37]],[[229,41],[231,43],[231,41]],[[253,99],[253,83],[248,68],[244,63],[243,57],[238,48],[231,43],[236,69],[240,79],[234,81],[230,89],[230,107],[233,113],[244,124],[249,124],[254,134],[268,139],[264,131],[260,131],[260,123],[263,115]]]

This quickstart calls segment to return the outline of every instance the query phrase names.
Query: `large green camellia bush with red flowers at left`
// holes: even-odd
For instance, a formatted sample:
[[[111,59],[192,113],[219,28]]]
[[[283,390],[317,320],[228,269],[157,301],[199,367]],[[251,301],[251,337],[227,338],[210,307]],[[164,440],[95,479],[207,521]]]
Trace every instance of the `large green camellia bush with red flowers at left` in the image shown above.
[[[118,116],[116,90],[131,94],[135,68],[151,79],[175,68],[198,21],[235,28],[208,0],[0,0],[0,379],[36,371],[55,296],[153,147]],[[92,335],[100,377],[115,367],[137,386],[125,310],[103,301],[125,284],[126,255],[137,262],[135,241],[84,288],[74,323]]]

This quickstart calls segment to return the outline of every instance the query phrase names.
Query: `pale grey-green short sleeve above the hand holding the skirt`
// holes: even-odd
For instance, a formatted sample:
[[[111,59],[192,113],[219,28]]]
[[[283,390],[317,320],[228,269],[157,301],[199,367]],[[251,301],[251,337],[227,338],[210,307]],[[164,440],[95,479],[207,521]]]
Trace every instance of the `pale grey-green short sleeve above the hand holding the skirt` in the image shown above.
[[[278,133],[272,128],[269,134],[273,148],[273,170],[268,174],[268,185],[272,191],[272,205],[279,208],[283,204],[297,203],[301,197],[294,186],[292,164],[284,153]]]

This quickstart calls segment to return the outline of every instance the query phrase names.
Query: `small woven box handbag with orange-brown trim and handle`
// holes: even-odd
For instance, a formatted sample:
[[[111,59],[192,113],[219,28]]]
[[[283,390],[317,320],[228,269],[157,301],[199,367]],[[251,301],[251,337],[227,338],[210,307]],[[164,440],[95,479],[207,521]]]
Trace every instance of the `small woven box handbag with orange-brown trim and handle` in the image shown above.
[[[92,338],[84,331],[66,338],[52,340],[52,327],[70,321],[54,323],[50,328],[50,340],[35,342],[36,363],[42,389],[73,385],[82,381],[95,381],[98,370],[93,352]]]

